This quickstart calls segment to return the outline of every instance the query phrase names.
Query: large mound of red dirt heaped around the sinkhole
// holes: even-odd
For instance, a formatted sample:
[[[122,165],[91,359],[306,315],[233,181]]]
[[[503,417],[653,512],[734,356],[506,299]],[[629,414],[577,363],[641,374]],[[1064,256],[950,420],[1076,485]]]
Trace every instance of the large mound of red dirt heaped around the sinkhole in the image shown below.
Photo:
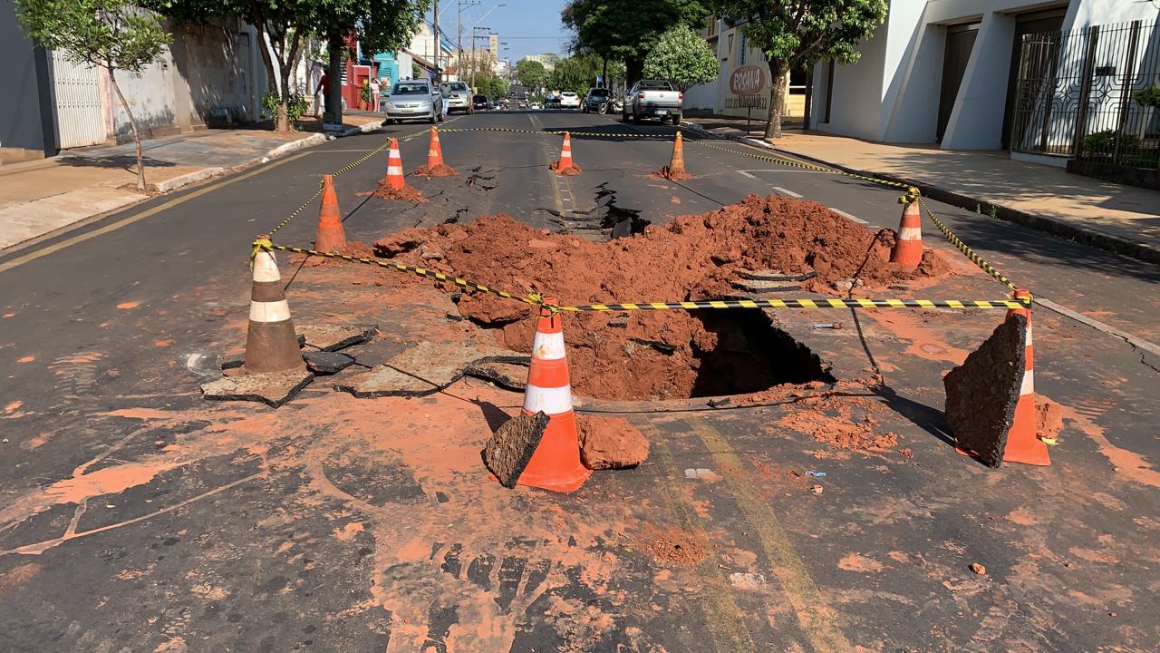
[[[702,215],[686,215],[665,227],[610,243],[535,230],[506,215],[466,224],[407,229],[375,243],[378,256],[462,277],[513,294],[536,292],[564,304],[702,300],[735,295],[737,271],[780,270],[817,277],[805,288],[835,293],[836,284],[858,272],[862,288],[882,287],[948,268],[928,251],[923,266],[907,272],[889,263],[892,238],[867,229],[817,202],[749,195],[742,202]],[[458,292],[455,286],[449,290]],[[477,324],[500,329],[508,349],[528,351],[534,310],[492,295],[464,294],[459,313]],[[712,322],[706,329],[704,321]],[[754,392],[746,374],[735,388],[698,387],[708,352],[745,358],[747,342],[731,332],[724,314],[687,311],[566,314],[573,387],[607,399],[672,399]],[[725,323],[724,325],[722,323]],[[760,346],[760,345],[759,345]],[[726,371],[712,376],[728,379]]]

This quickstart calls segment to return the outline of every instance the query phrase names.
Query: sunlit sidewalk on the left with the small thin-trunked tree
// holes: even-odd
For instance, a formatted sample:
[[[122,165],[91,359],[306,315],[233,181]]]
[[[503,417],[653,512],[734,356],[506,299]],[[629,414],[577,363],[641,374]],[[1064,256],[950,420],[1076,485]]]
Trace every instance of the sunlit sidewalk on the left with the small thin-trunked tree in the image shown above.
[[[343,116],[347,134],[380,124],[370,114]],[[324,143],[310,131],[206,129],[144,141],[145,181],[137,192],[132,143],[70,150],[49,159],[0,167],[0,250],[88,217],[204,179]]]

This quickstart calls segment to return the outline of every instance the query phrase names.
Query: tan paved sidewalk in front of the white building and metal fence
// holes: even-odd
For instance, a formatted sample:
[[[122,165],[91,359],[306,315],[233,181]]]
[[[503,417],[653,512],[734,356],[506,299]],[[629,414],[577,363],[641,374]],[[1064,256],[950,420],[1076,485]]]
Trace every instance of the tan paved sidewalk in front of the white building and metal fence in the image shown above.
[[[769,148],[745,120],[689,119],[723,137]],[[848,171],[918,186],[923,195],[1160,263],[1160,193],[1016,162],[1005,151],[890,145],[819,132],[786,131],[774,149]],[[994,207],[994,209],[992,209]]]

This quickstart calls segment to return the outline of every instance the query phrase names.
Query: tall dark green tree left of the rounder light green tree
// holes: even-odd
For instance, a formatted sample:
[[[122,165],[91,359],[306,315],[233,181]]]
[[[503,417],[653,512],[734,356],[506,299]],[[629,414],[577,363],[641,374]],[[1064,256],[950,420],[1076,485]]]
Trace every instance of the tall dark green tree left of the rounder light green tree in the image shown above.
[[[560,12],[575,30],[575,45],[604,59],[624,62],[628,81],[640,79],[645,57],[668,29],[704,27],[710,0],[568,0]]]

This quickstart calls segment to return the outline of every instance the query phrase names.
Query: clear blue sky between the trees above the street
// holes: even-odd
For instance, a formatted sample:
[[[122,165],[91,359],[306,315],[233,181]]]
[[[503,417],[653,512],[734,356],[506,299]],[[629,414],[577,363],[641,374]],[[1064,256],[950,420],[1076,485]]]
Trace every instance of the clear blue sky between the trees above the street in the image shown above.
[[[466,3],[469,0],[464,0]],[[470,0],[478,6],[463,8],[463,46],[470,46],[471,27],[490,27],[499,33],[508,50],[501,58],[513,62],[524,55],[567,51],[568,33],[560,23],[560,8],[565,0]],[[496,5],[506,5],[498,7]],[[492,7],[495,7],[492,9]],[[440,31],[455,41],[456,1],[440,0]],[[491,13],[488,10],[491,9]],[[485,17],[486,15],[486,17]],[[428,17],[429,13],[428,13]],[[483,19],[483,22],[479,22]],[[477,33],[479,34],[479,33]]]

